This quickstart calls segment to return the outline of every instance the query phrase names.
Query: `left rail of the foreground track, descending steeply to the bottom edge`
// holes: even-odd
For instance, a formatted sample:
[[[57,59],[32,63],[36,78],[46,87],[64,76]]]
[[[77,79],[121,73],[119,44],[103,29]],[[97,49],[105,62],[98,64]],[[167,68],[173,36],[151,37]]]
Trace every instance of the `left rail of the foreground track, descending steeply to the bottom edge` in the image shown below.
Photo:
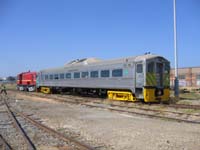
[[[10,116],[10,118],[12,119],[14,126],[18,129],[18,131],[21,133],[21,135],[24,138],[24,141],[26,142],[28,149],[29,150],[36,150],[36,147],[34,146],[34,144],[32,143],[32,141],[30,140],[30,138],[28,137],[28,135],[26,134],[26,132],[24,131],[24,129],[21,127],[20,123],[18,122],[17,118],[15,117],[14,113],[12,112],[12,110],[10,109],[7,101],[5,100],[5,98],[3,98],[3,101],[5,103],[7,112]]]

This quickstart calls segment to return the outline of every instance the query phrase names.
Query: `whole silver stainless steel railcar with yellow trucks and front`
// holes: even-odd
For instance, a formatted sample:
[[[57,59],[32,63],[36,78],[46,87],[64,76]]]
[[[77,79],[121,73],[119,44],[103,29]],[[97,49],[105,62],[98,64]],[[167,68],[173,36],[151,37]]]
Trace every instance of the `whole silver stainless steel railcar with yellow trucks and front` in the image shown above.
[[[169,100],[169,72],[170,62],[153,54],[113,60],[89,58],[41,70],[37,88],[43,93],[94,93],[114,100],[160,102]]]

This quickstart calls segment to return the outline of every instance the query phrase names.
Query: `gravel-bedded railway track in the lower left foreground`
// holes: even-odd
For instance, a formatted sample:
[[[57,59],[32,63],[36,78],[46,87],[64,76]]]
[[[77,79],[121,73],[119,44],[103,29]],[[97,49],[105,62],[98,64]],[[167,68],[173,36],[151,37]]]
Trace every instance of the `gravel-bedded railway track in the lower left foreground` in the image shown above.
[[[60,147],[60,145],[62,145],[61,148],[63,148],[63,149],[81,149],[81,150],[82,149],[83,150],[94,149],[93,147],[85,144],[84,142],[77,141],[71,137],[66,137],[63,134],[32,119],[28,115],[12,108],[7,102],[8,97],[7,97],[7,99],[5,99],[5,97],[1,96],[1,102],[2,101],[4,103],[3,106],[5,107],[6,111],[2,111],[1,114],[9,116],[9,119],[10,119],[9,122],[11,122],[11,124],[13,124],[15,129],[17,129],[17,131],[18,131],[17,133],[14,133],[14,134],[18,134],[18,137],[20,137],[20,136],[23,137],[23,140],[21,140],[19,142],[17,139],[11,139],[10,137],[7,136],[11,133],[6,133],[5,131],[2,131],[2,133],[4,133],[4,135],[5,135],[4,138],[2,136],[3,134],[0,136],[0,141],[2,141],[1,143],[2,143],[3,148],[20,149],[20,150],[21,149],[35,150],[35,149],[37,149],[37,146],[39,146],[41,143],[37,144],[38,141],[35,140],[31,136],[31,134],[33,134],[33,132],[34,132],[34,135],[35,135],[35,131],[39,131],[39,133],[38,132],[37,133],[42,134],[42,135],[35,135],[35,136],[37,136],[37,137],[45,136],[46,137],[45,138],[46,141],[43,138],[42,145],[45,145],[45,144],[48,145],[49,143],[56,143],[56,145],[59,145],[59,147]],[[1,118],[1,120],[2,120],[2,118]],[[7,120],[8,120],[8,118],[4,121],[4,125],[5,125],[5,122],[7,122]],[[24,128],[26,128],[26,130]],[[35,128],[37,128],[37,129],[35,129]],[[29,129],[29,131],[33,130],[32,133],[29,133],[28,129]],[[3,130],[3,129],[1,129],[1,130]],[[4,128],[4,130],[8,131],[10,129]],[[15,136],[12,136],[12,137],[15,137]],[[54,139],[52,139],[52,137],[54,137]],[[5,140],[6,138],[7,138],[7,140]],[[13,141],[15,141],[14,144],[12,143]],[[39,142],[41,142],[41,141],[39,141]],[[18,144],[18,145],[16,145],[16,144]]]

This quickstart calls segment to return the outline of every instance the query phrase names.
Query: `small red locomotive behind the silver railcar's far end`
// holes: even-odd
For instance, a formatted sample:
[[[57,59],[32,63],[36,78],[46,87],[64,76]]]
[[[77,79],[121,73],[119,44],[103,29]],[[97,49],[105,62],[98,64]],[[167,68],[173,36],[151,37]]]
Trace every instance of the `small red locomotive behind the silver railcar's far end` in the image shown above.
[[[17,89],[20,91],[35,91],[36,89],[36,72],[22,72],[17,75]]]

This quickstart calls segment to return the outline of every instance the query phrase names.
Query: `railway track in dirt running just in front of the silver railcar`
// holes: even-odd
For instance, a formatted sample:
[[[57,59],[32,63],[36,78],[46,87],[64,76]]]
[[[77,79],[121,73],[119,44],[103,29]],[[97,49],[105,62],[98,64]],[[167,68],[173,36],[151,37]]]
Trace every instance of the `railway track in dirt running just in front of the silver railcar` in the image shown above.
[[[116,102],[109,101],[109,103],[104,104],[102,101],[105,101],[105,99],[100,99],[100,98],[78,97],[71,95],[43,95],[41,93],[26,93],[26,94],[27,95],[30,94],[31,96],[39,96],[42,98],[50,98],[59,102],[67,102],[67,103],[85,105],[88,107],[107,109],[110,111],[136,114],[151,118],[159,118],[159,119],[172,120],[178,122],[200,124],[200,112],[198,113],[187,113],[187,111],[184,112],[185,110],[193,110],[193,109],[198,110],[197,108],[199,105],[191,107],[191,105],[180,105],[180,104],[177,105],[153,104],[151,106],[156,106],[156,107],[159,106],[159,108],[152,108],[149,105],[141,103],[132,104],[132,103],[119,102],[118,104],[114,104]],[[132,105],[129,106],[129,104]],[[143,108],[143,106],[145,107]],[[148,106],[148,108],[146,106]],[[167,108],[173,108],[173,110]]]

